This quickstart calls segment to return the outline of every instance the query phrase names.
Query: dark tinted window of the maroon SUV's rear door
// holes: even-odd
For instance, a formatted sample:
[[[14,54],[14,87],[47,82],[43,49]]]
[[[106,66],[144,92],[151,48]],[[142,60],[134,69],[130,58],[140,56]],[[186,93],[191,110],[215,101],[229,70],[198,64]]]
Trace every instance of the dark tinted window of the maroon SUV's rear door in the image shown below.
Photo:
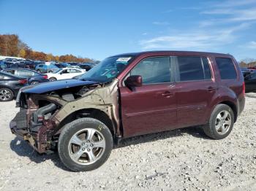
[[[211,79],[211,69],[206,57],[178,56],[178,81]]]

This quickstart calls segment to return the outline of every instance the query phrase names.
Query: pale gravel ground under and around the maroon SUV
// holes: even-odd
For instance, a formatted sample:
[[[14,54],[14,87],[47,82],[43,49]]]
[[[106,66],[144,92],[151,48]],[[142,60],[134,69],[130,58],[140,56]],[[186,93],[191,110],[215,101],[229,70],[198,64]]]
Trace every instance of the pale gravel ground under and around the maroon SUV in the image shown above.
[[[56,153],[15,138],[15,102],[0,103],[0,190],[256,190],[256,93],[226,139],[199,127],[122,141],[95,171],[74,173]]]

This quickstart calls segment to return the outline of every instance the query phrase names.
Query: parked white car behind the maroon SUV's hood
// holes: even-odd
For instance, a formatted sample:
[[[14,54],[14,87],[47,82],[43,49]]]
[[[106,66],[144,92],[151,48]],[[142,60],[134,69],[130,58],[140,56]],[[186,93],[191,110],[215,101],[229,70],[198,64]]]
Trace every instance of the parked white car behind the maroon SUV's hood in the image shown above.
[[[56,81],[59,79],[71,79],[78,75],[86,73],[86,70],[75,69],[75,68],[64,68],[54,71],[53,73],[47,73],[48,79],[50,81]]]

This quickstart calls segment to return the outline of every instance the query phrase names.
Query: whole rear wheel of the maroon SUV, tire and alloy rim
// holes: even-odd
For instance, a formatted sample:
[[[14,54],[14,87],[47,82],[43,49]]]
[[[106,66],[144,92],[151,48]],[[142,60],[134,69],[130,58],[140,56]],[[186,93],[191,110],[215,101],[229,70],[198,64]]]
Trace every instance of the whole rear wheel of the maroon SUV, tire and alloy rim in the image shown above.
[[[212,139],[224,139],[234,125],[234,113],[230,106],[219,104],[211,112],[210,120],[203,125],[203,131]]]

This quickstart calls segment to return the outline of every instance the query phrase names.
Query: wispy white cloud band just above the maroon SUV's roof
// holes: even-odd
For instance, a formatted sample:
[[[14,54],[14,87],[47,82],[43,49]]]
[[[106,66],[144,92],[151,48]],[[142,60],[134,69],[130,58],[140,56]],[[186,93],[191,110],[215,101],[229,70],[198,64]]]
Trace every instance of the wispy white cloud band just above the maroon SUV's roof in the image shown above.
[[[178,31],[176,34],[142,40],[140,41],[140,45],[143,47],[143,50],[208,50],[233,43],[237,38],[235,32],[244,30],[248,26],[248,24],[242,23],[235,27],[223,28],[216,31],[189,31],[186,33]]]

